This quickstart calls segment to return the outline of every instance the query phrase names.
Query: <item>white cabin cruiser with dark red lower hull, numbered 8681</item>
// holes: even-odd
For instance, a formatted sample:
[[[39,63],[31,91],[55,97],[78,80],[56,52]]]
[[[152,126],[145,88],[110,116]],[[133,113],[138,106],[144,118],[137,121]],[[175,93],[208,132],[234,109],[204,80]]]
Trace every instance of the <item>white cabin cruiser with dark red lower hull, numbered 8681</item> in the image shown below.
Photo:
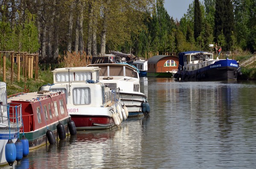
[[[77,130],[119,126],[122,108],[119,90],[99,82],[99,67],[73,67],[53,70],[53,84],[41,90],[66,94],[67,111]],[[128,114],[128,113],[127,113]]]

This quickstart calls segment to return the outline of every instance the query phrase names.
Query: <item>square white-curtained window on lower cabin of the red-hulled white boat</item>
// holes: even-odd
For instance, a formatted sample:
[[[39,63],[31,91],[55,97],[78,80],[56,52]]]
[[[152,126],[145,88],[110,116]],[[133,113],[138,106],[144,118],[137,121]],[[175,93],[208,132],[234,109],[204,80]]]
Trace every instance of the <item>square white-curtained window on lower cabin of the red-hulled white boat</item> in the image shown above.
[[[81,87],[73,89],[73,104],[74,105],[84,105],[90,104],[90,88],[89,87]]]

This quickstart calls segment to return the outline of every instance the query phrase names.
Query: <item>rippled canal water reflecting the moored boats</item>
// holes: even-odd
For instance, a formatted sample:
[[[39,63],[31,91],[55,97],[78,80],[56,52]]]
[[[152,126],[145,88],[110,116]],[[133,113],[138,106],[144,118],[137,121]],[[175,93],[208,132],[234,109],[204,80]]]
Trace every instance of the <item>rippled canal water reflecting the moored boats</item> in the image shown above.
[[[141,78],[150,116],[79,131],[4,169],[256,168],[256,82]]]

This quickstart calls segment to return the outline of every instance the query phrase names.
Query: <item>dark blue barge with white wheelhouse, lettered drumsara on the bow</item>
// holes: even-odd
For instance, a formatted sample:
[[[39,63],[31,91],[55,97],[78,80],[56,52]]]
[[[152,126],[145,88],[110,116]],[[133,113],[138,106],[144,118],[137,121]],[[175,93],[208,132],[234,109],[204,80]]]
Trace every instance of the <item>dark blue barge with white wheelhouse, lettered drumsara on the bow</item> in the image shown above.
[[[239,62],[214,59],[213,54],[202,51],[179,53],[179,67],[174,77],[178,80],[236,80],[241,74]]]

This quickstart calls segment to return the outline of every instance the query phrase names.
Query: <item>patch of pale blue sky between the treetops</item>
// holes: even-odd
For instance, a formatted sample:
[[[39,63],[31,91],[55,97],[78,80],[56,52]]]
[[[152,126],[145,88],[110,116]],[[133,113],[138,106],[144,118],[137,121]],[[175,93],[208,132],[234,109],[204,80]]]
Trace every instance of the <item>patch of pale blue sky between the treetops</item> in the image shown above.
[[[191,3],[193,3],[193,0],[165,0],[163,6],[170,17],[173,17],[174,20],[177,18],[180,21],[180,18],[188,11]]]

